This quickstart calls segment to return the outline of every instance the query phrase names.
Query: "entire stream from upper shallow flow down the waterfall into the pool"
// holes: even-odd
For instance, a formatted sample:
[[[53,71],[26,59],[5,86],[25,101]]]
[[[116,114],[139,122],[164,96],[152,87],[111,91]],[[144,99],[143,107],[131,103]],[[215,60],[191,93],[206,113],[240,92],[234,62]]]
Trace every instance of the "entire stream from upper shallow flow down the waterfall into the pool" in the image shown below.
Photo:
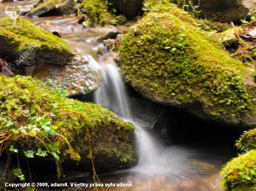
[[[7,16],[4,13],[5,7],[6,5],[0,4],[0,18]],[[52,24],[67,30],[67,33],[61,35],[69,45],[87,56],[90,63],[97,65],[96,67],[101,65],[103,82],[95,93],[97,96],[94,97],[94,102],[101,103],[103,107],[110,108],[122,118],[131,121],[125,101],[125,88],[118,68],[113,60],[107,62],[104,57],[98,56],[99,48],[107,51],[101,43],[93,41],[94,38],[108,32],[84,29],[76,24],[74,16],[21,17],[35,25]],[[149,134],[135,121],[133,123],[136,127],[138,165],[111,175],[99,176],[103,184],[131,183],[133,187],[104,187],[105,191],[224,191],[221,187],[214,188],[212,185],[216,185],[217,179],[221,180],[219,171],[229,159],[236,156],[234,150],[220,147],[218,140],[210,146],[198,143],[165,146],[161,140]],[[88,183],[93,183],[93,180],[89,179]]]

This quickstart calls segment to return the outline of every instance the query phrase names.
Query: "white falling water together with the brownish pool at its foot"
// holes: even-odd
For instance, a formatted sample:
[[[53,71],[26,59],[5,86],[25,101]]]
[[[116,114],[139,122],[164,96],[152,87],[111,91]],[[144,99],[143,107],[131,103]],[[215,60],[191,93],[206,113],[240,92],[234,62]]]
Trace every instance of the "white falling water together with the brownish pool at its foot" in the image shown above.
[[[136,121],[130,119],[124,83],[115,62],[101,59],[100,64],[102,83],[94,94],[94,102],[109,108],[124,120],[135,125],[138,164],[132,169],[118,172],[126,174],[121,178],[122,181],[135,185],[132,190],[128,190],[222,191],[221,188],[214,189],[209,184],[210,181],[215,180],[216,176],[218,177],[216,168],[207,173],[205,171],[209,171],[209,169],[205,170],[206,167],[195,168],[193,162],[196,165],[197,163],[201,165],[201,162],[196,160],[198,157],[202,157],[201,151],[195,151],[194,148],[194,151],[191,151],[188,146],[163,146],[160,140],[136,124]],[[210,166],[208,162],[204,165]],[[202,176],[204,179],[201,179]],[[213,180],[209,180],[210,178]],[[128,191],[124,188],[121,190]]]

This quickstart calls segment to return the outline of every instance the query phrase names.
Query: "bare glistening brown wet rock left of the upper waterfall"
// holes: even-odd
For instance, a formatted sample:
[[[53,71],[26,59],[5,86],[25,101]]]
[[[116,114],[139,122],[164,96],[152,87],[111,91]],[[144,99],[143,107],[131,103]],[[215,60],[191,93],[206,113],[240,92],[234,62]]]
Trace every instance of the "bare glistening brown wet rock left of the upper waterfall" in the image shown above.
[[[88,61],[76,56],[69,64],[37,64],[33,76],[47,82],[53,80],[56,86],[67,89],[67,96],[85,95],[95,91],[101,82],[100,70]],[[52,89],[56,87],[50,85]]]

